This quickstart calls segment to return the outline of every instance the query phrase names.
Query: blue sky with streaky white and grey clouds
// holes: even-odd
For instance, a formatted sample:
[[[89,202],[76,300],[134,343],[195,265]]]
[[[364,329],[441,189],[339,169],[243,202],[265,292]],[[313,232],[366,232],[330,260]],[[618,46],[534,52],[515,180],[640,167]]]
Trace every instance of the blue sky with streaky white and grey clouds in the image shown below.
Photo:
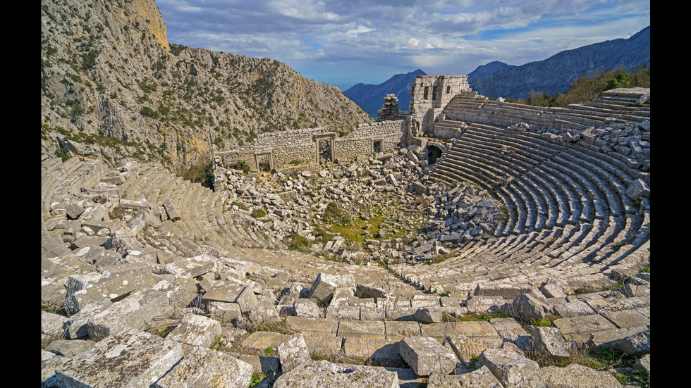
[[[628,38],[650,1],[157,0],[169,42],[286,63],[345,90],[417,68],[467,74]]]

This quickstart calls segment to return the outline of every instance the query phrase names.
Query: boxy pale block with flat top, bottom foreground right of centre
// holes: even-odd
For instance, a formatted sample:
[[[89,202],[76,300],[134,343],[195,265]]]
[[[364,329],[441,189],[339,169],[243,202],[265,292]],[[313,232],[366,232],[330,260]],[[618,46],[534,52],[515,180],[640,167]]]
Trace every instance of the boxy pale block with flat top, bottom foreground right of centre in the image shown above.
[[[458,358],[432,337],[408,337],[398,342],[398,353],[421,376],[451,373]]]

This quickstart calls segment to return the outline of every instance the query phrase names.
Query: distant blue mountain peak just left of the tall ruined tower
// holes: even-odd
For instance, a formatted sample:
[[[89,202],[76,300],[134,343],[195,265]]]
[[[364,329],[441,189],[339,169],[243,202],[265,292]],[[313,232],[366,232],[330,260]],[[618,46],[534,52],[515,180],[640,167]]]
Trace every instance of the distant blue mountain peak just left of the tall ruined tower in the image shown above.
[[[410,102],[410,87],[412,80],[418,75],[427,75],[424,71],[417,69],[407,74],[396,74],[379,85],[357,84],[343,92],[350,97],[355,104],[359,105],[365,112],[372,117],[377,117],[377,111],[384,104],[386,94],[393,93],[398,97],[398,108],[401,111],[408,111]]]

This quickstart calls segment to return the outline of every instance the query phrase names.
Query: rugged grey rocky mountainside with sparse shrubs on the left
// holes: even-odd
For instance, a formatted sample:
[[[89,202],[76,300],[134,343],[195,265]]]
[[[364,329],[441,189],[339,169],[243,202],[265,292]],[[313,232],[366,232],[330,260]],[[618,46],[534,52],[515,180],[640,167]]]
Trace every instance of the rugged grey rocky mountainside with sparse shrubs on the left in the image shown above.
[[[175,166],[259,132],[372,122],[285,63],[170,44],[153,0],[41,2],[42,154]]]

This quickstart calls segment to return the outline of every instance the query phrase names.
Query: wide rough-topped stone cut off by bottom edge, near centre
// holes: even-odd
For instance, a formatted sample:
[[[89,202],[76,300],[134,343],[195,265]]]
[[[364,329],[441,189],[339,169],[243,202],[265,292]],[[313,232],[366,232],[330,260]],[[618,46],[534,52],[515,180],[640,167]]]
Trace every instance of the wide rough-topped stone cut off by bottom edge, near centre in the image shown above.
[[[342,368],[329,361],[307,361],[283,373],[274,388],[396,388],[398,375],[382,368],[354,365]]]

